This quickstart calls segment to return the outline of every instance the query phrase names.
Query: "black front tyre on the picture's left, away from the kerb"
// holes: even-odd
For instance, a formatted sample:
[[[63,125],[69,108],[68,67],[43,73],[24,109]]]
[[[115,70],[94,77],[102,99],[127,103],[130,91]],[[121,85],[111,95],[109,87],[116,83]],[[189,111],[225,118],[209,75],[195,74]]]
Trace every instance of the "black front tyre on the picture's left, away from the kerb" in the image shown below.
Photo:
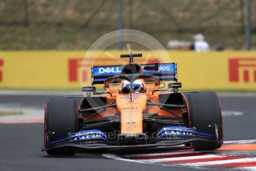
[[[48,155],[74,155],[72,147],[52,148],[49,141],[77,132],[77,102],[73,99],[55,97],[45,106],[45,151]]]

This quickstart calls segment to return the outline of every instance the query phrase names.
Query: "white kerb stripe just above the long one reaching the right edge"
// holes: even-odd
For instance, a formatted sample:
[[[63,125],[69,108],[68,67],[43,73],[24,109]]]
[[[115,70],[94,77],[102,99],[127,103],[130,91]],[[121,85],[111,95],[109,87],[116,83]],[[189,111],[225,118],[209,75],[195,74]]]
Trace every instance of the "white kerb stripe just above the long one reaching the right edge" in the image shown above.
[[[222,155],[199,155],[199,156],[188,156],[188,157],[177,157],[177,158],[157,158],[157,159],[149,159],[149,160],[138,160],[138,161],[144,161],[149,163],[158,163],[163,161],[186,161],[186,160],[192,160],[192,159],[202,159],[202,158],[220,158],[225,156]]]

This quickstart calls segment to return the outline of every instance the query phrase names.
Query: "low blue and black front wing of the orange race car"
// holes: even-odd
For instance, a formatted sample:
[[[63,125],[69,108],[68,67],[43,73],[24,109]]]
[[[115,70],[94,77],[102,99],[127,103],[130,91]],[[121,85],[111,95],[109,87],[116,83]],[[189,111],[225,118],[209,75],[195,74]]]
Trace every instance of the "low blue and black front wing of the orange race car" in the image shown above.
[[[141,134],[144,135],[144,134]],[[142,136],[143,137],[143,136]],[[186,128],[181,126],[166,126],[159,131],[157,138],[154,141],[143,141],[143,144],[136,143],[116,143],[109,144],[106,134],[97,129],[89,129],[72,134],[68,134],[63,138],[58,138],[53,141],[48,141],[48,149],[57,149],[61,147],[74,147],[77,149],[106,149],[106,150],[121,150],[121,149],[142,149],[142,148],[169,148],[188,144],[193,142],[212,142],[216,143],[216,136],[209,132],[196,132],[194,128]],[[118,141],[118,140],[117,140]]]

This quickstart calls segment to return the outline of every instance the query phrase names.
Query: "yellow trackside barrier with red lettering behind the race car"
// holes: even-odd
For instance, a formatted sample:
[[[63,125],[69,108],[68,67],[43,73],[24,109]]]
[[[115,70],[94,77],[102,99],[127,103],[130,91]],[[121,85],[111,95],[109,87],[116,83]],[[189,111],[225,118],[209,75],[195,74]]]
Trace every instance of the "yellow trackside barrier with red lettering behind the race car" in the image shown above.
[[[91,85],[92,65],[116,65],[125,52],[14,51],[0,52],[0,88],[77,89]],[[178,63],[184,89],[256,90],[256,51],[195,53],[142,51],[137,62]],[[150,54],[150,55],[149,55]],[[97,56],[97,59],[95,58]],[[83,62],[82,62],[83,61]]]

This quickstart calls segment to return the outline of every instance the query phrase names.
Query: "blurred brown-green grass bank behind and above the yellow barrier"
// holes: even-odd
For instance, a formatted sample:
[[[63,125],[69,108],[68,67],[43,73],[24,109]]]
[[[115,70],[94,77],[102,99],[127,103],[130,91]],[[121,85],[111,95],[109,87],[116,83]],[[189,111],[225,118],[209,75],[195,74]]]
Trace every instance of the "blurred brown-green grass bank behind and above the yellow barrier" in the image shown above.
[[[1,0],[0,49],[86,50],[121,28],[149,33],[165,48],[187,50],[202,33],[212,50],[243,50],[246,39],[255,49],[255,7],[248,0]]]

